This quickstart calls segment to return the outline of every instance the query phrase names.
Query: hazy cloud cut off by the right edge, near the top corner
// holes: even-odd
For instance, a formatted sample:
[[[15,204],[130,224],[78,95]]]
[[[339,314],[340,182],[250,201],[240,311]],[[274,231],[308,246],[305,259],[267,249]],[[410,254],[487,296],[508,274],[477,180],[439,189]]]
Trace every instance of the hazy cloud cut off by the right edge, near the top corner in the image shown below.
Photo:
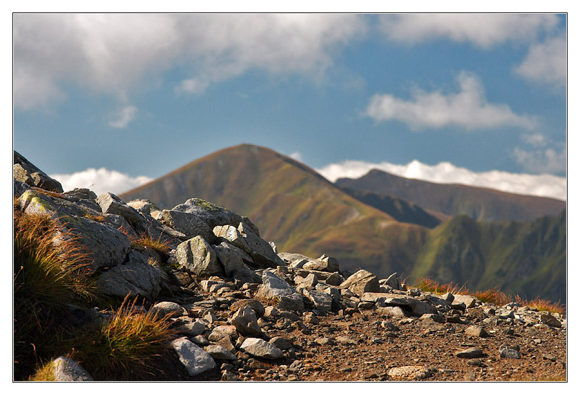
[[[566,37],[554,37],[530,47],[516,73],[542,84],[566,85]]]

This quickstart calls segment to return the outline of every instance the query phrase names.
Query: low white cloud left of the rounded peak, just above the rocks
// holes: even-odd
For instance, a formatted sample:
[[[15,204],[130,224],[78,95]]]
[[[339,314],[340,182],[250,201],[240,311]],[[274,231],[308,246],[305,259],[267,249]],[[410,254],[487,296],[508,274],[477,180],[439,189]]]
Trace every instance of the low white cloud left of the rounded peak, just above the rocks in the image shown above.
[[[52,174],[50,177],[58,180],[62,184],[64,191],[71,191],[75,188],[88,188],[97,195],[101,193],[123,193],[153,180],[151,177],[139,175],[131,177],[128,174],[116,170],[108,170],[101,167],[87,168],[72,174]]]

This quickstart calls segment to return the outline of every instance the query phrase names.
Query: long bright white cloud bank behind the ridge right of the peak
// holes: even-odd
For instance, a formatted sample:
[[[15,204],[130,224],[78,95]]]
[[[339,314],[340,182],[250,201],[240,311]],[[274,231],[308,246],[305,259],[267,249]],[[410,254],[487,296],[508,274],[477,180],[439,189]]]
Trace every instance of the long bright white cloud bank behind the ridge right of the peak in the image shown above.
[[[347,160],[329,164],[317,169],[317,171],[326,177],[327,180],[335,182],[341,177],[362,177],[374,168],[399,175],[400,177],[436,182],[438,184],[465,184],[509,193],[566,200],[566,177],[549,174],[517,174],[496,170],[476,173],[467,168],[454,166],[454,164],[449,162],[441,162],[431,166],[417,160],[403,165],[389,162],[369,163]]]

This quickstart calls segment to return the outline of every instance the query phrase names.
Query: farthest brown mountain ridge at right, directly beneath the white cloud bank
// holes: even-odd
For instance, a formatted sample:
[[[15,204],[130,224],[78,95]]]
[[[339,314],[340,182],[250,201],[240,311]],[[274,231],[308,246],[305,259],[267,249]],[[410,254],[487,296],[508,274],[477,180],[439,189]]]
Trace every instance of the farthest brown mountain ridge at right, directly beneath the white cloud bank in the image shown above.
[[[494,189],[460,184],[435,184],[371,170],[356,180],[336,180],[340,187],[392,195],[425,210],[447,215],[468,215],[474,220],[533,221],[545,215],[558,215],[566,202],[537,196],[505,193]]]

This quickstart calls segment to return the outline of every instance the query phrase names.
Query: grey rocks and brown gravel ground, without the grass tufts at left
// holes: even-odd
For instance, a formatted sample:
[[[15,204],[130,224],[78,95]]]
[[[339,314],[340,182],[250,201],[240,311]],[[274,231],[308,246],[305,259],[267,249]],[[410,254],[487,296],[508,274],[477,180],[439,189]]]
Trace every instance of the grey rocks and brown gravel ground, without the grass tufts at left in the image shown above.
[[[64,192],[17,156],[23,213],[46,213],[90,251],[99,295],[141,296],[177,336],[151,380],[566,380],[566,317],[438,295],[278,253],[241,215],[192,198],[171,210]],[[20,160],[19,160],[20,159]],[[135,240],[157,240],[157,251]],[[110,311],[85,309],[86,320]],[[57,380],[92,380],[63,356]]]

